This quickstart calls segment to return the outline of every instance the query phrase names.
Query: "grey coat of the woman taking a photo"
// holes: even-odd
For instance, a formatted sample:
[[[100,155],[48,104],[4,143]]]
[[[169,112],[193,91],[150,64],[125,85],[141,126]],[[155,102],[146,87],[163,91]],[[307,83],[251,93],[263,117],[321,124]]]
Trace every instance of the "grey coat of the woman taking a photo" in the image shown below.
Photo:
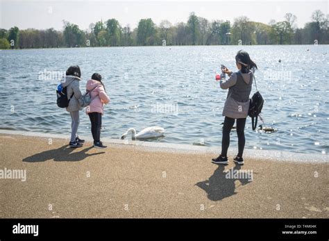
[[[233,73],[227,81],[220,81],[223,90],[230,89],[223,108],[223,116],[233,119],[246,118],[249,110],[249,95],[253,84],[253,72]]]

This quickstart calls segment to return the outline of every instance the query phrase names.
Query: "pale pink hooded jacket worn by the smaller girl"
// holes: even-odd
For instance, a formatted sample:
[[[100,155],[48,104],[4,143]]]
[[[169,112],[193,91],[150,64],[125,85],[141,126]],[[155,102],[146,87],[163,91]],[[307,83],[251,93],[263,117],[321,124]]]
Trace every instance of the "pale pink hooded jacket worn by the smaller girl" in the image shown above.
[[[96,88],[95,88],[96,87]],[[110,97],[108,97],[108,94],[106,94],[103,85],[99,81],[95,81],[93,79],[90,79],[87,81],[86,85],[87,90],[92,90],[91,92],[91,97],[92,97],[92,102],[90,103],[89,106],[85,108],[85,113],[101,113],[103,115],[104,109],[103,105],[104,103],[109,103],[110,102]]]

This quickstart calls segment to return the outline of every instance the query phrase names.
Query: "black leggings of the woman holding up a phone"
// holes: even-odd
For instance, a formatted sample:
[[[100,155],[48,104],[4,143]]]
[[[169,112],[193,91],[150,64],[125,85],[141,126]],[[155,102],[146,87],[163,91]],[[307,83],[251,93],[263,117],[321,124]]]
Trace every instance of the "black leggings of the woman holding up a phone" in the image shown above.
[[[223,137],[221,139],[221,156],[227,156],[228,147],[230,146],[230,130],[233,127],[235,119],[225,117],[223,124]],[[246,139],[244,138],[244,126],[246,126],[246,118],[237,119],[237,144],[239,146],[239,153],[237,156],[242,157],[244,153],[244,144]]]

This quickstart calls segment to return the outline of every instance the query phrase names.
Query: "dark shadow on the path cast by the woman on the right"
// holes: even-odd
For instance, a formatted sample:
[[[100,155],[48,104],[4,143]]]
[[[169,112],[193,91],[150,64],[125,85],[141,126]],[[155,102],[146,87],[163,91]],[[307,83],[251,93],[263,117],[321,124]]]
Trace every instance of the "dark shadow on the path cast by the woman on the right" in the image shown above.
[[[241,169],[239,165],[233,167],[234,172],[239,171],[239,169]],[[230,169],[228,169],[227,172],[224,172],[224,170],[225,166],[219,165],[218,168],[214,171],[214,174],[212,174],[208,180],[196,183],[196,186],[207,192],[208,199],[212,201],[219,201],[226,197],[237,194],[237,192],[235,192],[236,180],[242,183],[242,185],[249,183],[248,179],[246,178],[226,178],[226,174],[228,171],[230,171]]]

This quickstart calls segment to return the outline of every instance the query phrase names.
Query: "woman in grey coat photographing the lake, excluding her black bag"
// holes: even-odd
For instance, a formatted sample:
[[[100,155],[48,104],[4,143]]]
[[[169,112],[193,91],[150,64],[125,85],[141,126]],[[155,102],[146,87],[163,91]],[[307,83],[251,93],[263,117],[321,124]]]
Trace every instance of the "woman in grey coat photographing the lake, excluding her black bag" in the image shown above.
[[[244,165],[242,158],[244,152],[244,126],[246,125],[246,117],[249,110],[249,94],[251,93],[251,85],[253,84],[253,72],[257,69],[257,65],[251,60],[246,51],[240,50],[235,56],[235,63],[238,72],[231,72],[227,68],[223,70],[230,78],[227,81],[220,81],[223,90],[228,89],[223,108],[223,136],[221,140],[221,155],[212,159],[212,163],[228,164],[227,151],[230,146],[230,130],[233,127],[235,119],[237,119],[237,138],[239,153],[233,159],[238,165]]]

